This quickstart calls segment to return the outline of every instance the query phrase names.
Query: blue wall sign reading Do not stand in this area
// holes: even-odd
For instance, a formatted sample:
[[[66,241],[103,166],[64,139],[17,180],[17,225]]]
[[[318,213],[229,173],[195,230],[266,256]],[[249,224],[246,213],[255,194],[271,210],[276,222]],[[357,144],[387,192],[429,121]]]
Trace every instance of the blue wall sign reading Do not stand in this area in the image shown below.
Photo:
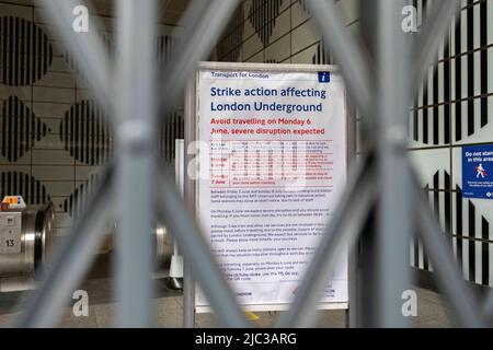
[[[462,197],[493,199],[493,144],[462,148]]]

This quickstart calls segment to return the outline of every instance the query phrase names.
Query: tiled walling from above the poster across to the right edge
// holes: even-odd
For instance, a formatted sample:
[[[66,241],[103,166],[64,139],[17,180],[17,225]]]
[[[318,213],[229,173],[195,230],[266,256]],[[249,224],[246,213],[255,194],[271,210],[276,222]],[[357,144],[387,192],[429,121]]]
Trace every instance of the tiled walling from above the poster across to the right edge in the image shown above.
[[[421,24],[433,1],[410,3]],[[339,7],[356,32],[357,1]],[[493,143],[493,0],[462,1],[448,35],[410,113],[410,153],[465,278],[493,285],[493,200],[463,199],[460,189],[461,147]],[[245,0],[216,54],[225,61],[333,63],[320,39],[302,0]],[[417,241],[411,264],[433,269]]]

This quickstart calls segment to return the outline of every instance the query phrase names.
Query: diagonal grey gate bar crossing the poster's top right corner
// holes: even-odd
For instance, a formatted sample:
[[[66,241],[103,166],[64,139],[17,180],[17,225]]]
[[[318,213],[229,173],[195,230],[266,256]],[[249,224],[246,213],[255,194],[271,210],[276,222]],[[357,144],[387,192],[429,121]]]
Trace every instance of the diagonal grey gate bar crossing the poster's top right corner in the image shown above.
[[[363,44],[353,37],[343,22],[343,15],[334,0],[307,0],[307,7],[313,16],[317,26],[322,32],[323,39],[334,55],[344,82],[348,88],[352,100],[359,113],[370,121],[374,119],[374,91],[375,81],[371,75],[372,62],[363,50]],[[363,119],[366,124],[367,119]],[[369,124],[368,121],[368,124]]]

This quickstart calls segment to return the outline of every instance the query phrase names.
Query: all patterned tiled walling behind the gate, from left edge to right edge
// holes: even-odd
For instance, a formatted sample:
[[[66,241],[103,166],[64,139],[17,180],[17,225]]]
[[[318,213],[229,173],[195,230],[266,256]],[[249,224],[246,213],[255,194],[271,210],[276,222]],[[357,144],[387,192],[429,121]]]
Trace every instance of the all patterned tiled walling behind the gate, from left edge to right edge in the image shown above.
[[[420,15],[432,3],[411,2]],[[465,278],[493,285],[493,200],[463,199],[460,189],[461,147],[493,143],[493,0],[462,2],[450,43],[437,52],[410,113],[410,153]],[[356,32],[357,1],[339,5]],[[111,11],[98,15],[114,52]],[[62,234],[112,156],[112,130],[47,25],[30,0],[0,0],[0,196],[53,200]],[[162,25],[157,38],[161,58],[172,47],[171,31]],[[243,1],[215,55],[223,61],[333,62],[303,0]],[[183,135],[180,114],[162,129],[159,148],[169,161],[175,135]],[[420,242],[411,248],[413,265],[433,269]]]

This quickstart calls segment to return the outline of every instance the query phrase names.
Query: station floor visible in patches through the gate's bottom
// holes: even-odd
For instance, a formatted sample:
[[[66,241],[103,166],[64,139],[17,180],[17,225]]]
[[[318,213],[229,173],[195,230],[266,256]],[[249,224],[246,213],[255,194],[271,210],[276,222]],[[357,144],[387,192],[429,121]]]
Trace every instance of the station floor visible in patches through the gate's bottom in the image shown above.
[[[67,307],[60,327],[111,327],[115,313],[115,304],[111,302],[107,293],[111,283],[107,279],[91,280],[84,284],[90,295],[89,316],[76,317],[71,307]],[[452,327],[448,308],[440,294],[425,289],[416,288],[417,292],[417,317],[414,317],[415,327]],[[7,327],[19,315],[22,306],[13,306],[13,299],[9,301],[0,295],[0,327]],[[170,291],[161,285],[160,296],[154,300],[154,312],[158,327],[182,326],[182,296],[180,292]],[[279,313],[255,313],[259,319],[253,320],[257,327],[270,327],[276,322]],[[320,312],[318,327],[344,327],[344,311]],[[213,314],[198,314],[196,327],[216,327],[217,322]]]

